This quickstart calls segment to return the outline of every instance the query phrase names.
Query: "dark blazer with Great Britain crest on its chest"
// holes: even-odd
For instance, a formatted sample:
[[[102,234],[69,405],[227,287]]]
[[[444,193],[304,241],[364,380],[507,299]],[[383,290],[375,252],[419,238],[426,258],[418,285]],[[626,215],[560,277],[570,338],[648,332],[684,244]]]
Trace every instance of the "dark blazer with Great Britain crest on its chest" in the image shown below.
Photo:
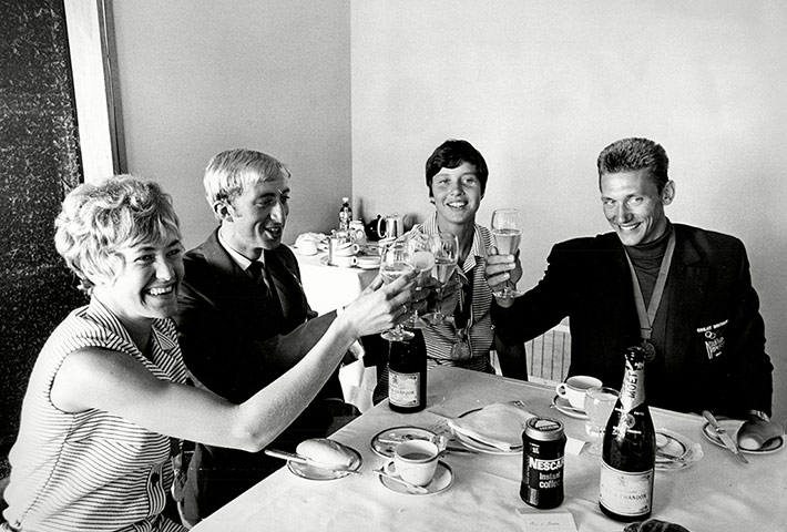
[[[770,413],[773,366],[743,243],[673,224],[675,254],[654,324],[656,358],[646,366],[651,406],[709,409],[740,417]],[[509,308],[492,305],[495,332],[527,341],[569,317],[569,375],[592,375],[620,389],[623,354],[641,342],[631,273],[617,235],[556,244],[539,284]]]

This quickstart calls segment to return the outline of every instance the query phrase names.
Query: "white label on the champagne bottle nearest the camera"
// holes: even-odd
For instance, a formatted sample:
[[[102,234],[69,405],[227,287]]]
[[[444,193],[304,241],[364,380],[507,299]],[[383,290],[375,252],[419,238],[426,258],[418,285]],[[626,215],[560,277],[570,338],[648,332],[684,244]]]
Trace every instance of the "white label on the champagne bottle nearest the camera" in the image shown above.
[[[602,461],[599,502],[619,515],[646,515],[653,504],[653,469],[632,473]]]

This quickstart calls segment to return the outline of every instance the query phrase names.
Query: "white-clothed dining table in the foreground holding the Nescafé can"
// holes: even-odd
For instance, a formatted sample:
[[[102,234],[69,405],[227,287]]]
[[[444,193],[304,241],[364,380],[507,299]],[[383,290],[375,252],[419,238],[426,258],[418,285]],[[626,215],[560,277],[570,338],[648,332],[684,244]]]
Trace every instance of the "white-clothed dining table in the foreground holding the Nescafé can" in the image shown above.
[[[197,532],[275,531],[622,531],[625,523],[599,509],[601,458],[587,452],[583,416],[558,406],[554,386],[439,366],[428,371],[427,408],[391,411],[378,403],[331,434],[360,456],[360,474],[309,480],[285,466],[197,524]],[[535,416],[561,421],[570,444],[564,459],[564,500],[539,510],[520,497],[522,452],[473,451],[452,437],[440,457],[449,482],[440,491],[410,494],[372,472],[389,459],[372,449],[380,433],[418,427],[452,436],[454,420],[490,405],[520,401]],[[704,433],[694,413],[651,408],[657,429],[698,444],[685,467],[656,470],[652,519],[692,532],[787,530],[787,453],[749,453],[742,463]],[[697,446],[693,446],[697,448]],[[566,524],[568,520],[568,524]],[[574,528],[575,526],[575,528]]]

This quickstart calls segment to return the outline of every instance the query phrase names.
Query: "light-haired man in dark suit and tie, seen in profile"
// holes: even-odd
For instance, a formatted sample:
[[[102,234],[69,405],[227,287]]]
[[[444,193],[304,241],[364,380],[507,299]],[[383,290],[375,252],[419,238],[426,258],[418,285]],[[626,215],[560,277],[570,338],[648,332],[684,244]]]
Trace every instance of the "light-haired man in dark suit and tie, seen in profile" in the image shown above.
[[[195,385],[239,403],[298,364],[337,314],[315,317],[296,258],[282,244],[289,213],[282,163],[251,150],[222,152],[208,163],[204,186],[219,226],[184,256],[175,321]],[[337,370],[270,447],[294,451],[354,410],[341,401]],[[280,467],[262,452],[196,444],[182,504],[186,520],[204,519]]]

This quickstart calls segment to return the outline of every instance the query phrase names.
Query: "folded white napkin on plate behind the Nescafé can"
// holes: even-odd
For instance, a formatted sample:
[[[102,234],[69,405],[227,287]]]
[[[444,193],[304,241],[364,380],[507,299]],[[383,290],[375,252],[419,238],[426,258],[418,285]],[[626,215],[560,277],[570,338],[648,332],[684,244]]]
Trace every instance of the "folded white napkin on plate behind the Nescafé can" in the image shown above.
[[[501,451],[512,452],[522,448],[524,422],[532,417],[521,401],[495,402],[450,419],[448,424],[454,432]]]

